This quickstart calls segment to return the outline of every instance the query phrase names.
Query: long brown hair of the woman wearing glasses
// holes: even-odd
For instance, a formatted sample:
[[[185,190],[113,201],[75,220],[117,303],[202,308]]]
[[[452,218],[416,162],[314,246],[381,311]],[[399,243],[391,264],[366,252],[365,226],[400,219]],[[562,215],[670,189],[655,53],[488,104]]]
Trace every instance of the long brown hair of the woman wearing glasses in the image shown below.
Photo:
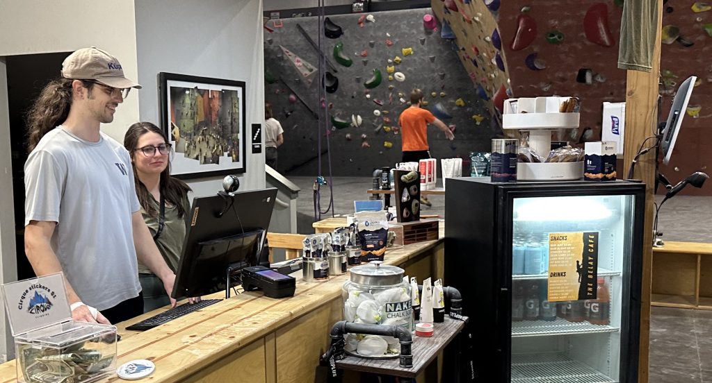
[[[160,134],[163,137],[165,143],[169,144],[166,135],[161,129],[158,128],[158,126],[155,126],[150,122],[137,122],[136,124],[129,126],[129,129],[126,131],[126,135],[124,136],[124,147],[127,151],[129,151],[129,153],[131,153],[131,158],[139,155],[135,150],[138,149],[138,140],[141,136],[147,133]],[[143,154],[141,154],[141,156],[143,156]],[[136,195],[138,196],[138,200],[141,203],[141,206],[152,217],[158,217],[158,210],[151,203],[151,193],[146,188],[146,185],[144,185],[138,178],[136,166],[132,166],[132,168],[134,172],[134,182],[136,184]],[[172,203],[178,209],[178,216],[183,217],[183,215],[186,213],[185,208],[183,207],[183,200],[184,198],[186,198],[188,192],[192,189],[190,188],[190,186],[187,185],[187,183],[184,183],[182,180],[171,177],[170,158],[168,161],[168,165],[161,172],[159,188],[161,190],[161,195],[163,195],[167,201]]]

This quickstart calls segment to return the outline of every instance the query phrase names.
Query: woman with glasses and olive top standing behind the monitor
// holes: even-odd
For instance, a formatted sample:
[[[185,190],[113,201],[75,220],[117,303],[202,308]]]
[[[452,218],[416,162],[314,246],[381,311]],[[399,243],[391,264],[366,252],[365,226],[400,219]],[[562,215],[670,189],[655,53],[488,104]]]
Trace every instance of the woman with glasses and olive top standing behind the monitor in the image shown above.
[[[124,147],[131,156],[141,215],[164,261],[175,272],[188,227],[188,192],[191,188],[170,176],[171,144],[158,126],[150,122],[131,125],[124,136]],[[144,312],[170,304],[160,279],[141,262],[138,263],[138,273]],[[200,298],[190,298],[189,301],[198,302]]]

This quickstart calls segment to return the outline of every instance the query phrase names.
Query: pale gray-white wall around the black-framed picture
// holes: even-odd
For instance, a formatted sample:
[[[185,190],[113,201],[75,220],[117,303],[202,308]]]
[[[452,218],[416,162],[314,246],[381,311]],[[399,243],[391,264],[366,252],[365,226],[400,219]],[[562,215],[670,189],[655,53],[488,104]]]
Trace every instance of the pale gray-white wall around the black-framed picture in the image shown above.
[[[159,72],[239,80],[246,83],[246,139],[264,121],[261,0],[136,1],[138,79],[142,121],[159,122]],[[246,144],[240,190],[265,187],[264,153]],[[195,194],[221,190],[222,178],[189,184]]]

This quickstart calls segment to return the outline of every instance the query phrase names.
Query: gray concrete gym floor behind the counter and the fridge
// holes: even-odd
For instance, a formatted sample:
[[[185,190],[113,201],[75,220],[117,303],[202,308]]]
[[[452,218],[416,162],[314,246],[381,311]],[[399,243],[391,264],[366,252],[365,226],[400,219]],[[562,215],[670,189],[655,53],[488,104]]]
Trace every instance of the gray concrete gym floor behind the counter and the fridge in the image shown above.
[[[313,204],[314,178],[290,177],[302,190],[297,201],[298,232],[313,233],[315,220]],[[333,193],[337,215],[353,212],[353,200],[366,200],[371,178],[333,178]],[[320,188],[321,210],[329,206],[328,186]],[[659,203],[659,196],[656,201]],[[432,207],[424,207],[424,214],[444,217],[445,198],[430,197]],[[332,211],[321,215],[331,217]],[[660,210],[658,230],[667,241],[712,242],[712,197],[677,195],[666,201]],[[691,222],[697,225],[691,227]],[[678,308],[652,308],[650,325],[649,383],[712,383],[712,311]]]

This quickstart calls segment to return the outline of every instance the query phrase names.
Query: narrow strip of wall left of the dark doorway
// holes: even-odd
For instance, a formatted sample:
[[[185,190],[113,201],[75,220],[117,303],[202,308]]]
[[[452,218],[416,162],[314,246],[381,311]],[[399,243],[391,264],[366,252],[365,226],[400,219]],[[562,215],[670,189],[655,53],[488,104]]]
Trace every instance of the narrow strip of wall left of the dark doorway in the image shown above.
[[[0,58],[0,100],[7,99],[7,72],[5,60]],[[0,136],[10,136],[10,114],[7,102],[0,102]],[[12,158],[10,140],[0,139],[0,284],[17,280],[15,256],[15,220],[12,196]],[[0,362],[12,352],[10,329],[6,328],[5,305],[0,302]]]

